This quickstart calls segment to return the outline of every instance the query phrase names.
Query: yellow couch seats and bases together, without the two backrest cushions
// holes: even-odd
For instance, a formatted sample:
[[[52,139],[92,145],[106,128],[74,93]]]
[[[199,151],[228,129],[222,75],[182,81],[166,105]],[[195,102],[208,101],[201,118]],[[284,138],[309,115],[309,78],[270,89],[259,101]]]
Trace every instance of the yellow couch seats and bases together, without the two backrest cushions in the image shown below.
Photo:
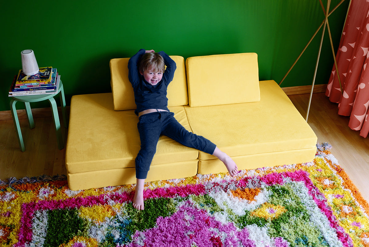
[[[170,109],[188,130],[205,136],[229,154],[239,170],[312,161],[317,141],[313,130],[274,81],[260,82],[260,86],[261,102],[210,107],[178,106]],[[270,116],[270,110],[266,109],[275,107],[275,102],[278,102],[281,109],[272,110]],[[135,122],[137,116],[131,110],[114,111],[111,93],[73,96],[72,103],[70,119],[73,122],[70,123],[66,150],[70,189],[135,183],[134,158],[139,150]],[[233,107],[241,108],[242,114],[251,117],[237,121],[240,116]],[[226,110],[214,113],[214,109],[223,108]],[[258,113],[257,116],[251,114],[254,110]],[[193,114],[196,112],[199,114]],[[86,116],[81,116],[83,114]],[[94,116],[94,121],[88,118],[90,114]],[[222,127],[218,118],[224,121],[224,126],[227,123],[233,125],[230,128]],[[235,126],[235,122],[239,125]],[[264,128],[258,130],[262,124]],[[270,128],[269,125],[275,133],[271,129],[265,131],[266,127]],[[99,129],[104,130],[104,133],[99,133]],[[131,134],[129,143],[127,129]],[[111,133],[108,135],[106,130]],[[234,130],[245,131],[234,134]],[[168,137],[161,139],[162,143],[158,144],[158,153],[154,157],[146,182],[186,178],[196,173],[227,172],[224,164],[214,159],[214,156],[184,147]],[[104,145],[107,147],[103,148]],[[124,156],[126,152],[127,155]],[[177,160],[171,163],[173,155]]]

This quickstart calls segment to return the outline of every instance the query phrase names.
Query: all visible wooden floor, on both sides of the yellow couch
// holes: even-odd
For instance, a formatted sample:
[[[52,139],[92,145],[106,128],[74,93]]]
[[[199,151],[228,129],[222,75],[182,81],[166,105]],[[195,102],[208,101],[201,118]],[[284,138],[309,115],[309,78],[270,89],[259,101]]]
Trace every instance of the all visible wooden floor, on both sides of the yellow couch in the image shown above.
[[[305,118],[309,95],[289,97]],[[347,126],[349,117],[337,112],[337,104],[331,103],[324,93],[314,93],[308,123],[319,143],[333,146],[332,154],[369,202],[369,139],[351,130]],[[13,120],[0,121],[0,179],[66,174],[65,148],[58,149],[52,118],[39,117],[34,121],[36,127],[30,130],[27,119],[20,120],[25,152],[19,150]],[[62,129],[66,138],[68,129]]]

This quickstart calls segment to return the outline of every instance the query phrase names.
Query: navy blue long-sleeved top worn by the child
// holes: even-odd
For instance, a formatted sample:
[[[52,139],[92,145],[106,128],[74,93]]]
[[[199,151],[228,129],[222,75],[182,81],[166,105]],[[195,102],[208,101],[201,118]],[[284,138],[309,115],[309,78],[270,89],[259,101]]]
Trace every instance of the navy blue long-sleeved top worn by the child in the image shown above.
[[[145,49],[140,49],[128,61],[128,78],[135,94],[135,103],[137,106],[135,113],[137,116],[139,112],[147,109],[162,109],[169,112],[166,90],[169,83],[173,80],[176,63],[165,52],[161,51],[158,53],[164,58],[166,69],[163,73],[162,80],[154,86],[146,82],[138,69],[141,57],[145,54]]]

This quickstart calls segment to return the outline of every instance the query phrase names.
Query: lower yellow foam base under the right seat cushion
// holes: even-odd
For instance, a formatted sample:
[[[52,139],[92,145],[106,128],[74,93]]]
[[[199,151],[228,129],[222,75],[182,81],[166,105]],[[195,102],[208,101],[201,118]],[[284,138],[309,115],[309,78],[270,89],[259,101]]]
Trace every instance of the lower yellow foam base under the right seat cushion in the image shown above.
[[[249,170],[261,167],[275,167],[279,165],[300,164],[310,162],[315,157],[317,148],[306,148],[299,150],[288,150],[281,152],[269,152],[261,154],[250,154],[235,156],[232,159],[236,162],[238,170]],[[223,162],[219,159],[199,160],[198,174],[217,174],[228,172]]]

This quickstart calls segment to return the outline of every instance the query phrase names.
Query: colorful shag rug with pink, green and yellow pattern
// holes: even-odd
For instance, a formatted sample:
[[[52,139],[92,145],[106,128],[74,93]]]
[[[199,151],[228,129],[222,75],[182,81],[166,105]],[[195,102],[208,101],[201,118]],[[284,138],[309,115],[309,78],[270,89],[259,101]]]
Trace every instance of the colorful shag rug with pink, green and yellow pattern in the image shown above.
[[[326,150],[313,162],[234,178],[146,183],[143,211],[132,207],[134,185],[1,182],[0,246],[369,246],[368,203]]]

